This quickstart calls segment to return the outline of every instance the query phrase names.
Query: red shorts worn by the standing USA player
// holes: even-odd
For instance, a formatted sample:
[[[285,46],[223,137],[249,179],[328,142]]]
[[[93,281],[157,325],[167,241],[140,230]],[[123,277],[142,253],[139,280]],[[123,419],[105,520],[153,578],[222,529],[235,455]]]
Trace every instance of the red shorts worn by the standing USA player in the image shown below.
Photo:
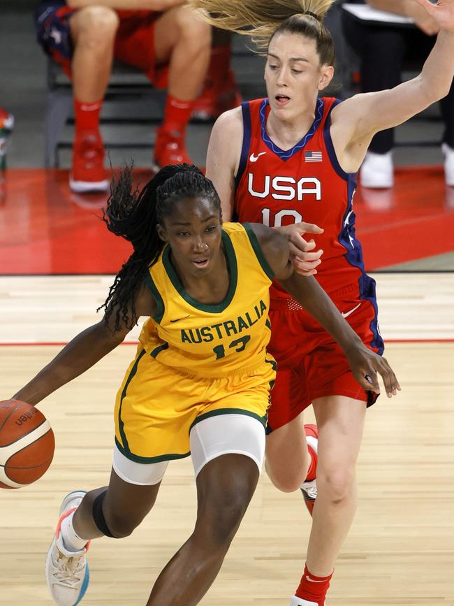
[[[330,293],[363,343],[379,354],[383,340],[377,323],[375,281],[366,274],[354,284]],[[370,406],[376,394],[365,391],[351,373],[342,349],[293,299],[272,299],[268,351],[277,360],[271,391],[268,433],[298,417],[316,398],[348,396]]]

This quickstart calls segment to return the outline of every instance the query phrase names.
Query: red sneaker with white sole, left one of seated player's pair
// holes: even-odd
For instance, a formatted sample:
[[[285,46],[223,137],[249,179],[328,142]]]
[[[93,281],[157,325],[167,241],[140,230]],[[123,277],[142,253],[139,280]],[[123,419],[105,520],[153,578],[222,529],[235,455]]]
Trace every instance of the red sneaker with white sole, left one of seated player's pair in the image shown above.
[[[82,131],[75,137],[69,187],[78,194],[105,192],[109,188],[104,168],[104,145],[97,130]]]

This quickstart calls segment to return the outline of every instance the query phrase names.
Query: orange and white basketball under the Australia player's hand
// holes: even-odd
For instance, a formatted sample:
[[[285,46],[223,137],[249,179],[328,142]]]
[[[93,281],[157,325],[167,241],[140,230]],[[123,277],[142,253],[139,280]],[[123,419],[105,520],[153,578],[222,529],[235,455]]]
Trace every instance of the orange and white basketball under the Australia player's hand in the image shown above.
[[[0,488],[27,486],[54,456],[54,432],[38,408],[19,400],[0,402]]]

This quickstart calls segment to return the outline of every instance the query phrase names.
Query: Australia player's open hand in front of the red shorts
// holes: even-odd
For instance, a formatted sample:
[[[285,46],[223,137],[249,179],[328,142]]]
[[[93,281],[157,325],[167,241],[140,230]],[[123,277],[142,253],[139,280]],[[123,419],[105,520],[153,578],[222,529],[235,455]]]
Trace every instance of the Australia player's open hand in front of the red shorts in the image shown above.
[[[397,391],[400,391],[400,384],[386,358],[372,352],[363,343],[358,344],[346,356],[353,376],[364,389],[374,391],[376,394],[380,393],[378,373],[381,375],[388,398],[395,396]]]

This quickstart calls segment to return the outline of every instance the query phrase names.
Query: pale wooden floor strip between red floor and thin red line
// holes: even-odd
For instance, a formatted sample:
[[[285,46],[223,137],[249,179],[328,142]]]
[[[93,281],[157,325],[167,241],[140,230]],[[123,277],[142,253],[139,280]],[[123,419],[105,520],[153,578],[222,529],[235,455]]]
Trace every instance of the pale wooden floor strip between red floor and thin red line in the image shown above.
[[[385,340],[454,340],[454,273],[372,274]],[[110,275],[0,276],[0,344],[68,342],[95,322]],[[345,311],[345,310],[342,310]],[[139,326],[126,342],[135,342]]]

